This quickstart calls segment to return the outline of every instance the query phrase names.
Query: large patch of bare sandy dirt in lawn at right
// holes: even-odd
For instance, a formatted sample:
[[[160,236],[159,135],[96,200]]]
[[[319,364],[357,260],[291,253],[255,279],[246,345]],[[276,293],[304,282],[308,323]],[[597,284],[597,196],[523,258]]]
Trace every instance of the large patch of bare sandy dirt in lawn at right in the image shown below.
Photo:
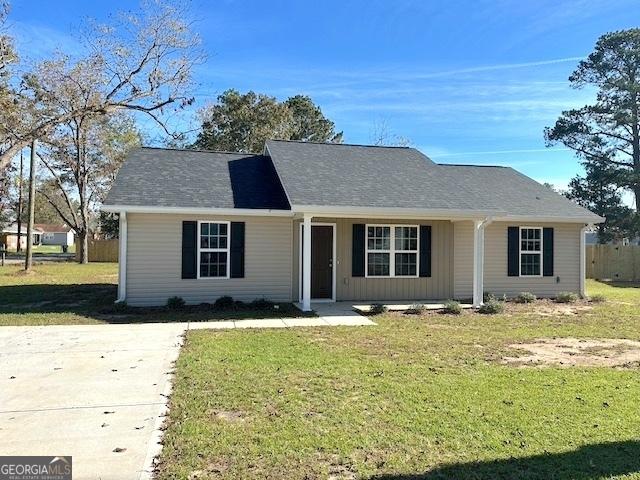
[[[502,359],[509,364],[620,367],[640,362],[640,342],[622,338],[542,338],[509,347],[522,352]]]

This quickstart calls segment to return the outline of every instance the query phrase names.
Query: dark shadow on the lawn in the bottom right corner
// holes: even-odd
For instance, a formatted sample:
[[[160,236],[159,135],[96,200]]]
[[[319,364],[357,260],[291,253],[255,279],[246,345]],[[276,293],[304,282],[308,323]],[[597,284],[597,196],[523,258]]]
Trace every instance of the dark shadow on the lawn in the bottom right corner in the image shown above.
[[[455,463],[425,473],[390,474],[375,480],[596,480],[640,472],[640,442],[600,443],[565,453],[487,462]]]

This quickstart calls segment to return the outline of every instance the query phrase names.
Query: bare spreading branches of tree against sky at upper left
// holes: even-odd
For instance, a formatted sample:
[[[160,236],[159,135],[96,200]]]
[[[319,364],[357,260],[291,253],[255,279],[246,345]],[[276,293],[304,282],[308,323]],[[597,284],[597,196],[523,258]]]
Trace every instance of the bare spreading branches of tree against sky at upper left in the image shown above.
[[[203,58],[177,5],[150,1],[110,25],[92,24],[83,58],[58,56],[25,75],[14,99],[21,121],[0,116],[0,170],[32,139],[88,117],[141,112],[171,133],[163,114],[192,103],[191,73]]]

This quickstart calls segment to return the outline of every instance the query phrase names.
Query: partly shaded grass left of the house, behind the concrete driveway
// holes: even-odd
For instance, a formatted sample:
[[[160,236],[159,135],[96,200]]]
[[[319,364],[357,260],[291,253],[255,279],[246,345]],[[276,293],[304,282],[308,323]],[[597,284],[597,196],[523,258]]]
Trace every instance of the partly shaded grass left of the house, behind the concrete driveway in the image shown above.
[[[118,264],[36,263],[33,273],[21,265],[0,267],[0,326],[75,325],[133,322],[202,322],[243,318],[303,316],[291,304],[255,310],[244,306],[215,310],[210,306],[117,309]],[[211,303],[216,299],[212,298]]]

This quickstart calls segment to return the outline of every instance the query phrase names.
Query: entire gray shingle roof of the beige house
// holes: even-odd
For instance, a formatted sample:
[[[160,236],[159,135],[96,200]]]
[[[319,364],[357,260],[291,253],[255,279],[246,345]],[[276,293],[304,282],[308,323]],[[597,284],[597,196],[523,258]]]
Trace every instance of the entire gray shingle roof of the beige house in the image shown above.
[[[120,169],[105,205],[288,210],[288,195],[294,207],[464,210],[599,220],[507,167],[436,164],[404,147],[269,140],[266,152],[270,157],[137,149]]]

